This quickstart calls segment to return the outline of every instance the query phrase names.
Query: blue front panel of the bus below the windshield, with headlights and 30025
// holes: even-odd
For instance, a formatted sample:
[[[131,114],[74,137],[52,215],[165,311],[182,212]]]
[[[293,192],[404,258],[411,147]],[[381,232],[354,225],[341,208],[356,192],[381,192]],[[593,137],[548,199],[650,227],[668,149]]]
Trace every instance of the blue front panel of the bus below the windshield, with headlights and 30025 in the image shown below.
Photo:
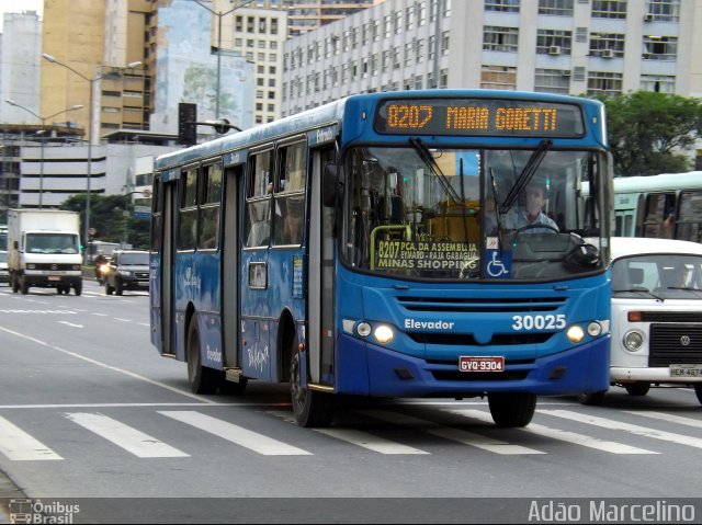
[[[336,353],[339,392],[426,396],[521,390],[546,395],[608,388],[609,334],[587,334],[590,321],[609,326],[607,274],[557,286],[411,283],[399,289],[392,281],[344,270],[340,274],[337,330],[341,335]],[[543,324],[517,329],[518,320],[528,316],[541,316]],[[362,340],[344,333],[344,319],[363,320],[373,329],[388,324],[395,336],[385,346],[373,344],[372,336]],[[566,336],[571,324],[586,331],[577,345]],[[460,356],[502,356],[506,370],[461,373]],[[565,370],[557,379],[550,379],[550,374],[558,375],[556,367]],[[359,369],[367,370],[367,375],[358,374]],[[401,378],[401,369],[414,379]],[[346,370],[353,374],[346,376]],[[488,377],[491,380],[483,380]]]

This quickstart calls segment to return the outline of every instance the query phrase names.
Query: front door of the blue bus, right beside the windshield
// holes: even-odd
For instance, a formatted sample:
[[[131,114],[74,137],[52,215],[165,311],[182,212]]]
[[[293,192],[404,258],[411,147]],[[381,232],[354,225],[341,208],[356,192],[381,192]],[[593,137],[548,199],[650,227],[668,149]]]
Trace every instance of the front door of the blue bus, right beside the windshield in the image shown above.
[[[321,183],[325,167],[336,163],[333,147],[315,149],[312,155],[312,194],[308,236],[307,352],[308,380],[333,387],[335,330],[335,222],[336,207],[325,206]]]

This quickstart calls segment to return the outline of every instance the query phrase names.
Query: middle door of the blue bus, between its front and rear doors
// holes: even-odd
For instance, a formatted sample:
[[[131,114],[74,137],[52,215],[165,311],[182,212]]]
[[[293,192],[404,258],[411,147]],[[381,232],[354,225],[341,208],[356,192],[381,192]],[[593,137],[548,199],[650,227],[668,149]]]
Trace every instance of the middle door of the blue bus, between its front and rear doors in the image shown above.
[[[225,171],[222,232],[222,334],[224,367],[238,372],[239,355],[239,203],[244,202],[244,164]]]

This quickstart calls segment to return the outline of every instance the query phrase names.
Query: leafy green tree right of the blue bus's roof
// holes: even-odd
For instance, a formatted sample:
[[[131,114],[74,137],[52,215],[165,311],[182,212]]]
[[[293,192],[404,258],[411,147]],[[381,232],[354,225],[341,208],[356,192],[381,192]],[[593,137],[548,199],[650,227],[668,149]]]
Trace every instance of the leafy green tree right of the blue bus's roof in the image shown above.
[[[680,173],[693,169],[686,150],[702,135],[702,102],[653,91],[596,96],[607,107],[607,127],[618,175]]]

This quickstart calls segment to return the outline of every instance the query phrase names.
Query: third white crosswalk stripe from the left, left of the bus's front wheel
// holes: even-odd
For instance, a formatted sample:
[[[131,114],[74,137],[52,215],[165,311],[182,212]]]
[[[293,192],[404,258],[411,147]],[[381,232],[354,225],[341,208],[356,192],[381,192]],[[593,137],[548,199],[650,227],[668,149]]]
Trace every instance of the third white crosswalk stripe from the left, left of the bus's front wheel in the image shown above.
[[[160,414],[195,426],[210,434],[249,448],[264,456],[309,456],[312,453],[263,434],[194,411],[159,411]]]

